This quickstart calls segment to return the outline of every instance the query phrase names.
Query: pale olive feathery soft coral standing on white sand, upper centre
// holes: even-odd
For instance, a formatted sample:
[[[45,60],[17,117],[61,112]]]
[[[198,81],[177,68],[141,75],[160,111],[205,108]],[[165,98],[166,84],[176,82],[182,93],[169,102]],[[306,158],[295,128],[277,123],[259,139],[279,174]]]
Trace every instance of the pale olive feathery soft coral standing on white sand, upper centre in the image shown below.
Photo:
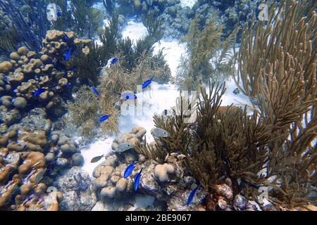
[[[204,30],[199,28],[195,17],[183,39],[187,44],[187,56],[182,56],[178,67],[177,82],[182,89],[196,90],[209,82],[227,79],[235,72],[235,57],[231,47],[235,44],[237,30],[223,38],[223,25],[218,25],[217,16],[209,21]],[[192,82],[190,82],[192,80]]]

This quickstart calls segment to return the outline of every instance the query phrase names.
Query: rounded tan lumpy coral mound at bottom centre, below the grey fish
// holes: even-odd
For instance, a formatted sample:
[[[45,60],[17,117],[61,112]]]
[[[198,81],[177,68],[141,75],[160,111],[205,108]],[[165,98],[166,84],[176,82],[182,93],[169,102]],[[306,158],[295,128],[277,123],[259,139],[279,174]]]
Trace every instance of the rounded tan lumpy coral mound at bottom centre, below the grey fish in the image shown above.
[[[114,140],[113,146],[116,147],[120,142],[129,141],[132,134],[135,135],[135,139],[142,139],[144,131],[145,129],[142,127],[133,127],[132,133],[125,133],[118,140]],[[125,179],[123,178],[125,168],[132,162],[135,162],[135,169]],[[115,148],[113,153],[106,155],[104,162],[101,162],[93,172],[93,176],[96,178],[92,181],[94,190],[102,200],[98,207],[116,203],[116,205],[123,205],[118,210],[127,210],[124,202],[132,201],[137,195],[134,191],[133,177],[141,168],[143,168],[141,184],[137,193],[154,196],[156,201],[164,203],[161,207],[166,210],[192,210],[204,198],[204,194],[200,190],[193,205],[186,206],[187,195],[194,186],[194,179],[190,176],[183,176],[181,162],[178,158],[170,156],[165,164],[159,165],[154,160],[146,160],[144,155],[136,153],[134,149],[118,153]],[[133,207],[131,209],[133,210]]]

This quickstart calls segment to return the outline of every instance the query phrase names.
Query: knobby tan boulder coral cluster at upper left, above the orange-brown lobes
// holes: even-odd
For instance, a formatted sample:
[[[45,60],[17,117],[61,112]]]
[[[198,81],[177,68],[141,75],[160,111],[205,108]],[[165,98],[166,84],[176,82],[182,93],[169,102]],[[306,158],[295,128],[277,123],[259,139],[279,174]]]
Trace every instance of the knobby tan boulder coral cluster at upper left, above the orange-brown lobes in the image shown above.
[[[64,60],[66,51],[70,45],[76,48],[89,42],[89,39],[76,39],[74,32],[49,30],[40,53],[30,51],[25,46],[12,52],[11,60],[0,63],[0,92],[3,96],[11,96],[13,104],[9,104],[6,97],[1,99],[1,105],[7,110],[13,107],[22,110],[35,101],[44,106],[50,105],[48,109],[58,103],[58,95],[68,91],[66,84],[75,81],[75,72],[67,69]],[[39,89],[44,89],[44,92],[35,96],[35,91]]]

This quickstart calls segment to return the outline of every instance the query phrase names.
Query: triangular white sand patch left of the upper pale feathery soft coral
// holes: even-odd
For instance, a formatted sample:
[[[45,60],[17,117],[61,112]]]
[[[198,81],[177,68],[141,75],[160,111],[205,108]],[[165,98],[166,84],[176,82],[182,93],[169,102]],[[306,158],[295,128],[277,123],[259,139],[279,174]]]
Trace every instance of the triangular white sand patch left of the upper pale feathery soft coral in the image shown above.
[[[166,55],[165,59],[170,67],[172,77],[175,77],[178,65],[180,64],[180,56],[185,54],[185,44],[178,43],[178,40],[162,40],[154,44],[154,53],[157,53],[161,49],[163,49],[163,54]]]

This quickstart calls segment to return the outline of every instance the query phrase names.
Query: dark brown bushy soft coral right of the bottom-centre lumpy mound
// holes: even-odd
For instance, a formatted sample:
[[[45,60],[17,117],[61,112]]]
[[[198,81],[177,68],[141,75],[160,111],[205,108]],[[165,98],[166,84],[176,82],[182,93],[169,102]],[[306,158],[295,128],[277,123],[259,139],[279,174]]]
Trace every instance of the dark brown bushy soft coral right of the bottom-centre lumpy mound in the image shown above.
[[[163,117],[154,117],[156,127],[165,129],[170,136],[159,138],[146,146],[141,144],[137,146],[137,152],[160,163],[168,160],[168,155],[175,153],[185,155],[181,160],[182,165],[185,165],[185,168],[204,187],[207,196],[210,195],[206,200],[206,208],[209,210],[216,209],[220,198],[215,195],[215,186],[225,181],[225,178],[230,178],[234,195],[243,193],[248,200],[259,201],[257,190],[260,186],[267,186],[271,187],[269,199],[275,204],[294,207],[313,203],[313,200],[302,197],[287,199],[285,197],[288,194],[292,195],[292,192],[282,191],[283,182],[280,187],[275,184],[275,181],[287,177],[282,175],[285,172],[294,172],[294,158],[292,154],[286,154],[287,149],[280,142],[280,137],[282,134],[287,137],[288,132],[292,131],[287,130],[287,127],[301,117],[305,112],[303,108],[307,105],[294,108],[289,114],[281,113],[275,120],[270,120],[265,113],[257,111],[253,115],[247,115],[246,108],[242,110],[229,107],[225,113],[221,113],[218,109],[224,91],[223,85],[214,84],[210,86],[209,94],[201,89],[202,98],[198,103],[197,120],[194,124],[185,123],[183,115],[180,114],[167,120],[163,120]],[[291,113],[292,117],[290,117]],[[306,138],[310,137],[309,134],[306,136]],[[308,146],[311,141],[311,139],[307,141]],[[288,146],[292,146],[292,140],[287,142]],[[296,142],[295,139],[294,143]],[[309,150],[313,151],[311,148]],[[305,158],[304,160],[306,163],[299,165],[313,169],[313,160]],[[293,167],[285,165],[293,165]],[[263,169],[268,169],[268,174],[263,175]],[[297,190],[299,196],[311,192],[309,187],[313,184],[313,171],[311,174],[312,180],[307,179],[306,174],[302,175],[302,180],[290,178],[293,184],[301,184],[308,188],[306,192],[302,189]],[[166,172],[161,172],[159,177],[165,179],[166,175]],[[298,178],[301,177],[299,175]],[[275,176],[274,181],[271,181],[272,176]],[[278,195],[280,191],[286,196]],[[228,200],[232,205],[233,198]]]

